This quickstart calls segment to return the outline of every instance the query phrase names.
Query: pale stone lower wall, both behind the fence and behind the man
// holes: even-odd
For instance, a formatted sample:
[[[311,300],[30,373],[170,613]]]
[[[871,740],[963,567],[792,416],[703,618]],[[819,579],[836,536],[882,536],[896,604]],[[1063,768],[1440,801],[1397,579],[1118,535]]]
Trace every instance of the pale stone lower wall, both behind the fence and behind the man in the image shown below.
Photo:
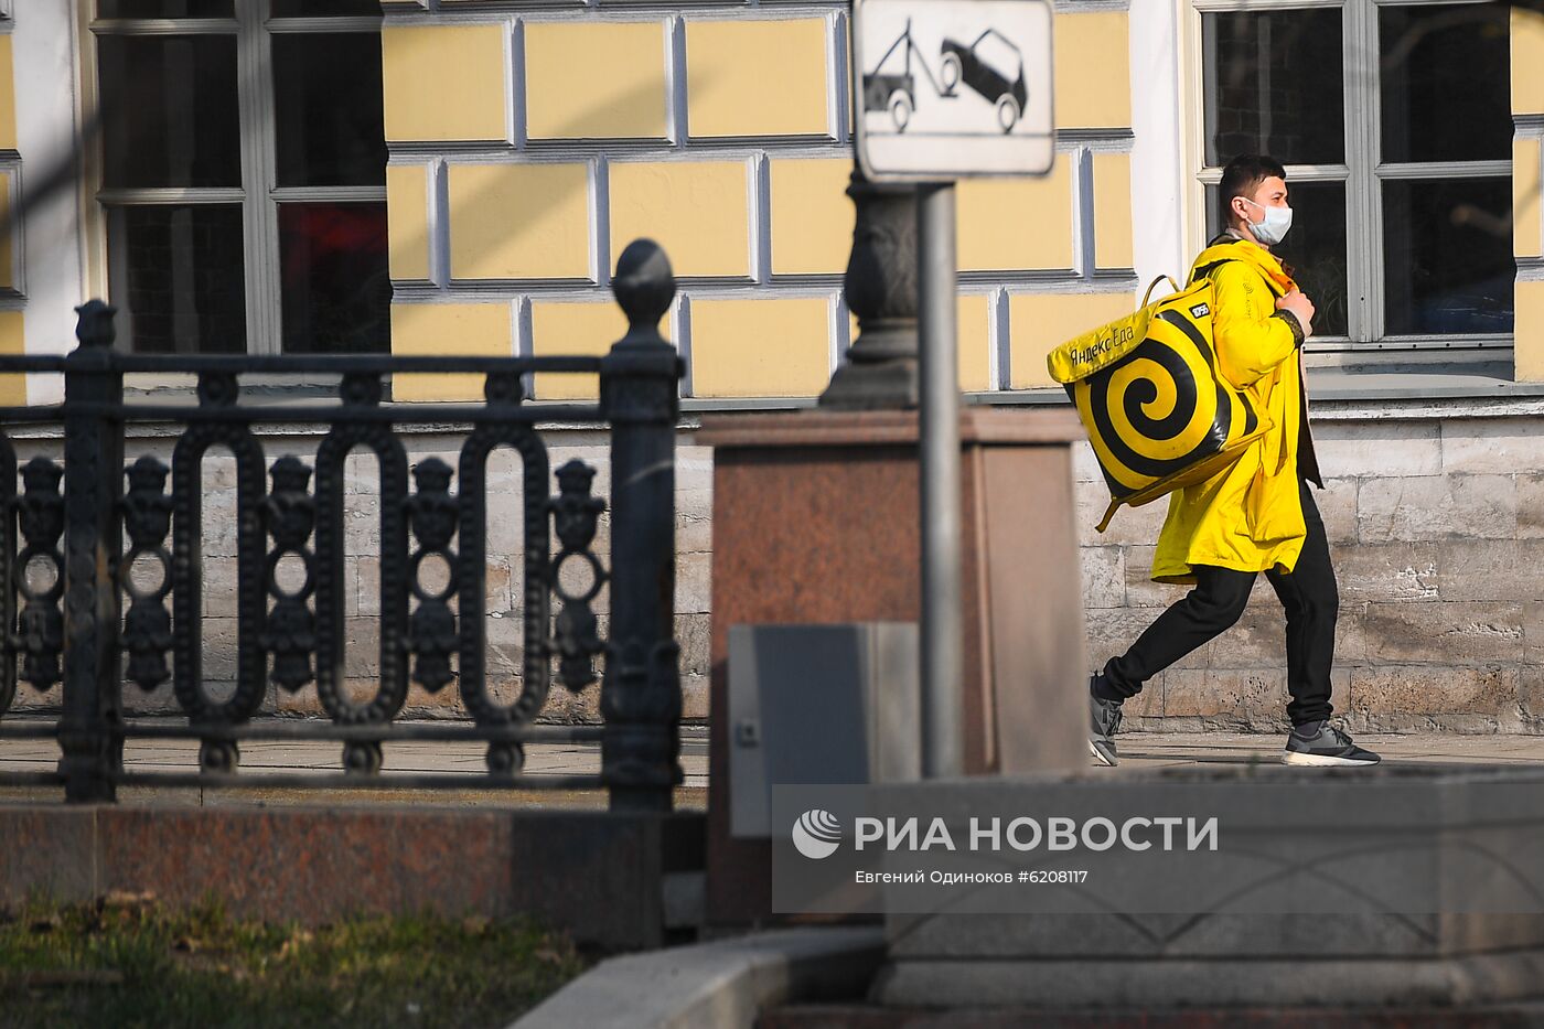
[[[1334,669],[1336,709],[1353,729],[1442,728],[1465,732],[1544,732],[1544,402],[1403,402],[1315,406],[1315,439],[1326,488],[1317,493],[1340,581]],[[548,433],[551,465],[593,464],[596,493],[610,493],[605,439],[594,431]],[[315,453],[317,437],[267,439],[272,457]],[[406,439],[409,460],[454,464],[459,439]],[[19,440],[22,460],[57,443]],[[134,440],[139,453],[170,457],[170,439]],[[1147,579],[1164,502],[1122,510],[1099,536],[1107,502],[1092,451],[1081,445],[1078,477],[1084,603],[1090,660],[1133,641],[1183,587]],[[514,462],[499,451],[489,474],[488,641],[497,694],[513,698],[520,669],[520,491]],[[347,667],[357,695],[378,669],[374,470],[349,474]],[[210,689],[229,689],[235,658],[235,482],[227,460],[207,464],[204,635]],[[608,547],[602,519],[598,550]],[[712,562],[712,453],[684,431],[676,468],[676,632],[682,643],[686,717],[707,717]],[[605,629],[605,593],[598,604]],[[1156,729],[1285,726],[1286,672],[1280,606],[1265,581],[1237,627],[1155,678],[1127,705],[1129,725]],[[1068,683],[1079,689],[1081,683]],[[170,691],[125,686],[130,709],[174,714]],[[19,709],[57,709],[59,691],[22,686]],[[315,688],[270,689],[266,711],[313,714]],[[408,714],[460,717],[455,688],[429,695],[414,686]],[[553,689],[550,722],[598,718],[598,688]]]

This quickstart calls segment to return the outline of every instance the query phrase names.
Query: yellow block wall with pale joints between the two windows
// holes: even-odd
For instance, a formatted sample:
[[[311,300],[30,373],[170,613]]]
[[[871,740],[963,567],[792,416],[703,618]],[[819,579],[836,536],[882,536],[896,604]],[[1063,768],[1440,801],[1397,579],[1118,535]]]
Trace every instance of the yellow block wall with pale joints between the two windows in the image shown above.
[[[849,85],[834,80],[848,5],[619,11],[445,0],[383,32],[395,349],[511,352],[506,315],[528,309],[533,352],[599,352],[621,326],[608,273],[647,236],[689,309],[684,392],[818,394],[849,338],[832,335],[855,221]],[[1112,297],[1130,304],[1110,292],[1133,264],[1129,19],[1062,12],[1055,31],[1058,124],[1076,142],[1044,178],[957,193],[968,391],[1044,385],[1036,318],[1073,335],[1090,328],[1078,318],[1115,317]],[[445,281],[429,281],[437,252]],[[471,343],[477,331],[489,338]],[[594,391],[557,375],[534,388]],[[409,380],[398,396],[446,392],[476,383]]]

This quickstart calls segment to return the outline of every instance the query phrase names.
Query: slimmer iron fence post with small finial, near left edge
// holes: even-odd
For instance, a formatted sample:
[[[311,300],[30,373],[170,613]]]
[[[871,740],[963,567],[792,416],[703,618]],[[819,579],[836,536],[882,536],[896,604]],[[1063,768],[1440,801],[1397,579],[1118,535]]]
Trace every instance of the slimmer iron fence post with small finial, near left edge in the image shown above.
[[[119,482],[124,436],[116,408],[124,375],[113,368],[113,315],[100,300],[76,307],[80,345],[65,358],[65,705],[59,723],[65,799],[117,799],[124,768],[120,603],[124,553]]]

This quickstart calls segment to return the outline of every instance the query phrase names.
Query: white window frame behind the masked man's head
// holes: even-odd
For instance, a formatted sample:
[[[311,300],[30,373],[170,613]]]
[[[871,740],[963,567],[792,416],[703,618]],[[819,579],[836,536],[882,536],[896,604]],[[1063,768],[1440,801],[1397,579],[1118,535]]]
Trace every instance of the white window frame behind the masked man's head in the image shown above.
[[[1370,351],[1484,351],[1495,360],[1512,349],[1512,334],[1387,335],[1383,294],[1383,182],[1396,179],[1454,179],[1512,176],[1505,161],[1385,164],[1379,93],[1379,8],[1481,5],[1488,0],[1181,0],[1186,17],[1187,145],[1186,181],[1190,193],[1187,244],[1204,246],[1206,187],[1221,181],[1221,168],[1206,165],[1206,76],[1201,17],[1204,14],[1340,9],[1345,70],[1345,164],[1286,165],[1288,187],[1295,182],[1345,182],[1346,187],[1346,335],[1314,337],[1319,352]]]

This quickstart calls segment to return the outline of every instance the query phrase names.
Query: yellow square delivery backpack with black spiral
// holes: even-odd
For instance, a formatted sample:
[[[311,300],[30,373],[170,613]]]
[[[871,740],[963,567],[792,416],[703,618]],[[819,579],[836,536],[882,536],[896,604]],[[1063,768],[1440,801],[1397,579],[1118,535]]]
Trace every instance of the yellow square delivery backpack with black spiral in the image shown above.
[[[1164,277],[1167,278],[1167,277]],[[1133,315],[1068,340],[1045,358],[1082,419],[1110,507],[1141,507],[1210,479],[1238,460],[1271,423],[1217,366],[1212,280],[1152,304],[1155,280]]]

